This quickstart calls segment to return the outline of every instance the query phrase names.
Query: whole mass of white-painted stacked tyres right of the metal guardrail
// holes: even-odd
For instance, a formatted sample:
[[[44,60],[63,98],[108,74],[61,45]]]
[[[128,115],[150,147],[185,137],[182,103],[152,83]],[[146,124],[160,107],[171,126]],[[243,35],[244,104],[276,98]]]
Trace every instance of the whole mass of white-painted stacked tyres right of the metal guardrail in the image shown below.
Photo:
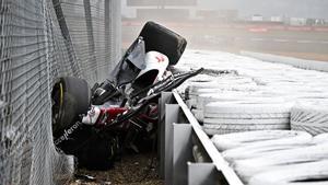
[[[197,55],[195,55],[197,56]],[[203,57],[206,57],[206,55],[202,55],[199,58],[195,59],[195,56],[188,58],[190,59],[190,63],[192,63],[191,61],[197,61],[199,59],[203,59]],[[220,56],[221,57],[221,56]],[[226,57],[226,58],[224,58]],[[231,57],[231,58],[229,58]],[[253,105],[251,102],[235,102],[234,101],[230,101],[229,99],[220,99],[222,96],[225,96],[226,94],[231,94],[233,92],[241,92],[242,97],[243,99],[249,99],[249,93],[259,93],[260,97],[268,97],[268,99],[276,99],[276,97],[283,97],[283,100],[286,100],[288,102],[301,102],[301,103],[317,103],[320,104],[320,102],[328,102],[327,100],[327,93],[325,93],[327,91],[327,84],[328,84],[328,79],[327,73],[323,73],[323,72],[317,72],[317,71],[309,71],[309,70],[301,70],[301,69],[296,69],[290,66],[285,66],[285,65],[276,65],[276,63],[267,63],[267,62],[261,62],[259,60],[255,60],[255,59],[249,59],[249,58],[243,58],[243,57],[236,57],[233,55],[229,55],[229,56],[223,56],[221,59],[219,57],[214,57],[212,56],[211,58],[207,58],[203,59],[206,60],[204,63],[210,65],[211,68],[215,69],[226,69],[226,66],[229,66],[230,69],[234,69],[237,71],[237,76],[238,77],[243,77],[243,78],[248,78],[251,79],[253,82],[255,82],[256,84],[254,85],[254,83],[247,83],[244,86],[253,86],[254,91],[248,91],[245,90],[243,88],[239,88],[243,84],[235,84],[235,82],[232,80],[231,83],[224,83],[224,82],[220,82],[216,84],[219,85],[214,85],[213,83],[208,83],[204,84],[203,86],[200,88],[196,88],[195,90],[190,91],[190,94],[192,96],[192,103],[194,106],[197,107],[197,109],[192,111],[195,115],[197,115],[198,119],[203,118],[203,129],[207,131],[207,134],[209,135],[214,135],[214,134],[226,134],[226,132],[233,132],[233,131],[245,131],[245,130],[251,130],[251,129],[268,129],[270,127],[272,127],[272,125],[277,126],[282,126],[284,125],[283,123],[277,124],[281,120],[286,120],[286,119],[291,119],[291,107],[285,108],[286,111],[272,111],[272,109],[279,109],[281,107],[281,105],[284,105],[283,103],[278,102],[278,105],[273,105],[274,103],[277,104],[277,102],[261,102],[260,105]],[[220,62],[213,62],[213,61],[219,61]],[[243,62],[241,62],[243,61]],[[195,63],[195,66],[197,66]],[[221,77],[219,77],[221,80]],[[222,79],[226,79],[226,77],[222,78]],[[208,79],[209,80],[209,79]],[[214,79],[215,80],[215,79]],[[219,80],[218,80],[219,81]],[[213,85],[211,85],[213,84]],[[220,95],[212,95],[212,94],[220,94]],[[211,95],[208,95],[211,94]],[[227,95],[226,95],[227,96]],[[232,95],[235,96],[235,95]],[[237,96],[235,96],[235,100],[237,99]],[[229,101],[226,101],[229,100]],[[211,104],[215,104],[213,103],[214,101],[219,101],[221,103],[218,103],[219,106],[213,106],[212,111],[208,111],[209,105]],[[224,102],[224,103],[222,103]],[[225,106],[225,105],[232,105],[232,106]],[[241,105],[238,105],[241,104]],[[247,108],[241,108],[241,106],[244,106],[244,104],[251,104],[251,105],[247,105],[249,107]],[[265,104],[265,106],[263,106]],[[266,105],[266,104],[270,104],[270,105]],[[224,107],[221,108],[221,105],[224,105]],[[327,105],[327,103],[326,103]],[[259,106],[258,108],[253,108],[251,106]],[[260,107],[263,106],[263,107]],[[273,108],[270,108],[273,107]],[[293,107],[294,108],[294,107]],[[313,108],[313,106],[312,106]],[[201,114],[201,109],[203,111],[203,114]],[[239,111],[243,109],[243,111]],[[323,108],[324,109],[324,108]],[[320,111],[323,111],[320,109]],[[328,109],[328,108],[326,108]],[[325,111],[325,109],[324,109]],[[304,112],[304,111],[303,111]],[[297,116],[297,120],[302,120],[302,123],[296,123],[293,124],[292,123],[292,127],[296,131],[297,130],[304,130],[304,131],[308,131],[313,134],[313,135],[317,135],[320,132],[325,132],[326,130],[326,125],[324,125],[325,122],[321,122],[320,127],[315,125],[318,125],[318,120],[324,120],[323,117],[318,116],[319,114],[304,114],[304,113],[300,113]],[[293,117],[293,116],[292,116]],[[242,119],[242,120],[241,120]],[[293,119],[293,118],[292,118]],[[277,123],[276,123],[277,120]],[[304,120],[304,122],[303,122]],[[312,122],[306,122],[312,120]],[[227,123],[226,123],[227,122]],[[235,124],[233,124],[232,122],[235,122]],[[293,120],[292,120],[293,122]],[[273,123],[273,124],[272,124]],[[276,124],[274,124],[276,123]],[[315,125],[313,124],[315,123]],[[308,124],[306,125],[306,127],[303,127],[304,124]],[[312,124],[312,125],[309,125]],[[285,124],[288,125],[288,127],[290,127],[290,124]],[[296,129],[295,127],[297,127],[298,125],[301,125],[303,128],[302,129]],[[306,128],[306,129],[304,129]],[[272,128],[273,129],[273,128]],[[277,130],[272,130],[272,131],[277,131]],[[280,130],[278,130],[280,131]],[[284,130],[283,130],[284,131]],[[301,131],[302,132],[302,131]],[[237,132],[236,132],[237,134]],[[231,134],[232,135],[232,134]],[[291,135],[291,137],[286,137],[288,139],[291,139],[293,141],[291,142],[285,142],[285,141],[281,141],[282,143],[272,143],[272,144],[265,144],[266,141],[274,141],[274,140],[279,140],[279,139],[283,139],[284,137],[282,136],[272,136],[271,139],[263,139],[266,137],[266,134],[262,134],[262,137],[259,137],[259,139],[257,138],[253,138],[255,134],[251,131],[249,132],[248,136],[245,136],[244,139],[245,141],[238,141],[237,136],[236,135],[232,135],[230,139],[227,139],[227,141],[234,141],[234,139],[236,138],[236,142],[237,143],[233,143],[233,147],[226,147],[226,149],[224,147],[222,147],[221,149],[219,149],[220,151],[223,151],[223,153],[225,154],[226,158],[229,158],[229,152],[234,151],[235,153],[237,153],[236,155],[232,154],[232,159],[231,159],[231,165],[232,166],[239,166],[239,164],[237,162],[241,161],[246,161],[246,160],[260,160],[260,159],[265,159],[267,158],[267,155],[270,155],[270,158],[268,157],[268,160],[272,160],[270,161],[266,161],[265,162],[249,162],[247,164],[249,164],[249,169],[251,167],[251,165],[254,166],[266,166],[266,170],[261,170],[255,174],[246,174],[248,175],[248,180],[249,183],[257,183],[256,185],[284,185],[284,184],[302,184],[302,185],[308,185],[308,184],[328,184],[327,182],[327,175],[326,176],[318,176],[319,178],[325,178],[325,180],[318,180],[317,178],[317,174],[312,173],[311,171],[313,169],[315,169],[316,166],[319,166],[321,169],[324,169],[323,166],[328,166],[327,162],[325,161],[320,161],[317,162],[315,165],[309,165],[313,164],[313,162],[308,162],[317,159],[317,160],[321,160],[325,159],[325,154],[321,153],[321,155],[316,155],[313,154],[311,152],[324,152],[323,149],[320,150],[318,147],[317,149],[315,148],[316,146],[320,146],[320,144],[325,144],[326,141],[328,140],[328,134],[321,134],[315,137],[312,137],[312,135],[309,134],[305,134],[306,137],[304,137],[303,139],[301,138],[297,141],[294,141],[293,139],[293,135]],[[326,135],[326,136],[325,136]],[[216,138],[215,137],[221,137],[220,135],[215,135],[212,140],[215,143],[215,141],[224,141],[222,138]],[[295,137],[295,136],[294,136]],[[248,140],[247,140],[248,139]],[[256,141],[254,141],[256,140]],[[238,143],[242,142],[242,143]],[[261,143],[259,146],[253,146],[253,143]],[[296,142],[296,143],[294,143]],[[215,144],[216,146],[216,144]],[[229,144],[227,144],[229,146]],[[218,147],[218,146],[216,146]],[[218,147],[219,148],[219,147]],[[327,147],[326,147],[327,148]],[[304,150],[306,150],[306,152],[304,152]],[[292,153],[291,155],[289,155],[289,152],[291,151],[295,151],[294,153]],[[277,153],[277,155],[274,155],[274,152]],[[311,154],[308,154],[308,152]],[[243,155],[238,155],[239,153],[244,154]],[[285,153],[282,157],[279,153]],[[234,158],[236,157],[236,159]],[[309,158],[311,157],[311,158]],[[323,157],[323,158],[321,158]],[[283,158],[282,161],[278,161],[274,162],[274,160],[278,160],[280,158]],[[243,160],[242,160],[243,159]],[[293,174],[297,173],[296,170],[298,170],[300,167],[302,167],[298,164],[295,164],[294,162],[300,164],[308,164],[307,167],[303,167],[305,171],[308,171],[306,173],[303,173],[302,176],[292,176],[286,177],[286,178],[282,178],[281,176],[279,176],[278,174],[281,175],[285,175],[285,176],[291,176]],[[267,166],[268,165],[268,166]],[[291,167],[292,166],[292,167]],[[283,167],[289,167],[289,170],[283,170]],[[280,169],[280,171],[278,171],[277,169]],[[247,172],[251,171],[253,169],[248,170]],[[295,170],[295,171],[294,171]],[[327,167],[324,169],[327,171]],[[267,176],[262,176],[259,178],[255,178],[258,175],[261,175],[263,173],[269,173],[272,171],[277,171],[277,173],[271,173],[270,175]],[[315,170],[316,171],[316,170]],[[295,173],[294,173],[295,172]],[[317,171],[318,172],[318,171]],[[300,174],[298,173],[298,174]],[[320,173],[318,173],[320,174]],[[308,175],[305,176],[304,175]],[[311,178],[308,181],[308,178]],[[257,181],[257,182],[256,182]],[[272,183],[273,182],[273,183]]]

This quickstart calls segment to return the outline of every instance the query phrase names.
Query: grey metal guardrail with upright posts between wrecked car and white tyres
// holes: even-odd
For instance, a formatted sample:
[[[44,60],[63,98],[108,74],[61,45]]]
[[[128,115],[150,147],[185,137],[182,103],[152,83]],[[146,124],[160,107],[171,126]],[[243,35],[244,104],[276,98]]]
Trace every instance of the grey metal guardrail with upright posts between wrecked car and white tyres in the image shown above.
[[[160,100],[160,175],[165,185],[243,185],[177,92]],[[204,162],[194,162],[198,146]]]

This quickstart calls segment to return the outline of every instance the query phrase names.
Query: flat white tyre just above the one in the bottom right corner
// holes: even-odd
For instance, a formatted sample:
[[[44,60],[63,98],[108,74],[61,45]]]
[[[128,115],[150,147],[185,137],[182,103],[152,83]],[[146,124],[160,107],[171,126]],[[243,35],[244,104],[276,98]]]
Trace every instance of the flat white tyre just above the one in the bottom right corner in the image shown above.
[[[279,165],[328,159],[328,143],[267,152],[265,155],[233,162],[237,174],[247,182],[253,175]]]

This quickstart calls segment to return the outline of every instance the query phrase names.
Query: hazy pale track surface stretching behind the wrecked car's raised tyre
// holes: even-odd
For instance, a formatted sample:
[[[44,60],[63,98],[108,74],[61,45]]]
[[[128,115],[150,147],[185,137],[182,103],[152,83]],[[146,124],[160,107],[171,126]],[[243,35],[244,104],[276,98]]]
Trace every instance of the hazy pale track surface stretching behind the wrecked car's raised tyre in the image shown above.
[[[190,49],[259,53],[293,56],[296,58],[328,61],[328,31],[291,27],[270,30],[256,25],[256,28],[163,24],[179,33],[188,41]],[[122,46],[128,47],[138,36],[142,24],[122,25]]]

